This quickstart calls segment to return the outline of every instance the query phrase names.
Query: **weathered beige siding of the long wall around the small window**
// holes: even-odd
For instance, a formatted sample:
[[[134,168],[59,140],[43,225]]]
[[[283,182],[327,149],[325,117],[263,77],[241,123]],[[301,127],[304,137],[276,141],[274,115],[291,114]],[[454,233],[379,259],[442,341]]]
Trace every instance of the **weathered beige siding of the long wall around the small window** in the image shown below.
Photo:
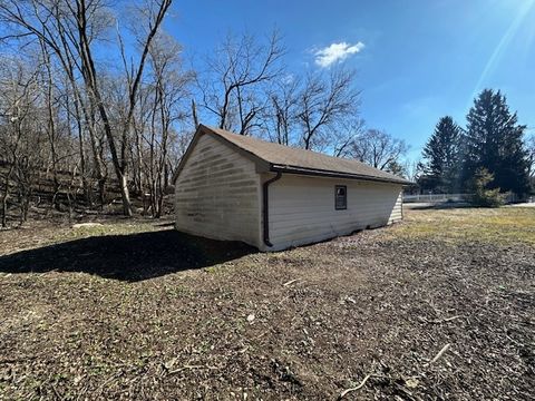
[[[335,185],[348,188],[344,211],[334,208]],[[272,250],[391,224],[402,217],[401,202],[401,185],[283,175],[270,186]]]

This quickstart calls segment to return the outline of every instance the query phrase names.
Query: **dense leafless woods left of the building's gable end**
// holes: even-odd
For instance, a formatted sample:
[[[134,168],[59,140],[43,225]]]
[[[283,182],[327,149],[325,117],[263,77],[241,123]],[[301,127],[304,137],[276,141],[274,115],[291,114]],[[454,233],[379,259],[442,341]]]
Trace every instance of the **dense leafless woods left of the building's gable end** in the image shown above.
[[[146,197],[145,212],[163,213],[193,81],[160,31],[169,6],[136,3],[128,25],[100,0],[0,1],[3,225],[14,188],[28,205],[30,177],[49,178],[56,208],[59,194],[69,209],[78,199],[103,207],[111,188],[125,215],[132,190]],[[120,60],[111,66],[110,43]]]

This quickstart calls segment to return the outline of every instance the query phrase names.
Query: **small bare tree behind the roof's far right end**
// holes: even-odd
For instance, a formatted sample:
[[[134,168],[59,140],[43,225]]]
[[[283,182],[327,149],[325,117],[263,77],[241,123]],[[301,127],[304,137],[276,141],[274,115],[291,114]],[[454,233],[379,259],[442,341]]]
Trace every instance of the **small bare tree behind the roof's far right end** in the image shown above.
[[[400,164],[399,158],[408,150],[402,139],[398,139],[379,129],[368,129],[358,136],[350,146],[350,155],[372,167],[387,170],[392,163]]]

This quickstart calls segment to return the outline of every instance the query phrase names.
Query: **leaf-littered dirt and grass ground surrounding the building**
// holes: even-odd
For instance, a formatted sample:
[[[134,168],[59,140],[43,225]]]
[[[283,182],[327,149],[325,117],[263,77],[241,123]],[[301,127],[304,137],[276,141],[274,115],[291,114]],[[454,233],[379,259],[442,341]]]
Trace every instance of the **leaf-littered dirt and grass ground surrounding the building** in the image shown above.
[[[273,254],[101,223],[0,232],[0,400],[535,398],[534,208]]]

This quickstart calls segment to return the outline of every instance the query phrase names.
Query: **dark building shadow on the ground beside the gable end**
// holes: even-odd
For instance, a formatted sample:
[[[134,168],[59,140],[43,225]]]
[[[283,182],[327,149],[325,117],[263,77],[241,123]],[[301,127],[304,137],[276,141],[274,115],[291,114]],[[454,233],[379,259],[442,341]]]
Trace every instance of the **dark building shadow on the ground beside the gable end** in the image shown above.
[[[202,268],[255,253],[241,242],[201,238],[175,229],[106,235],[0,256],[0,272],[84,272],[136,282]]]

